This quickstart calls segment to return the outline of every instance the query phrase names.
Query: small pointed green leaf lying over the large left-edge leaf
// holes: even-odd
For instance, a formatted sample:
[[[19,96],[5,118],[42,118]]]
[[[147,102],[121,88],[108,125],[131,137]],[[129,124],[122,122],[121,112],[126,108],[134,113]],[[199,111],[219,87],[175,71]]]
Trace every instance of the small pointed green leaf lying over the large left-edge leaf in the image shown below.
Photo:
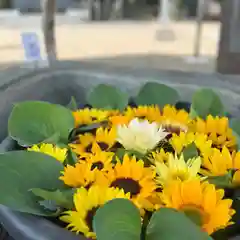
[[[30,189],[32,193],[44,200],[53,201],[57,206],[63,207],[66,209],[73,209],[73,194],[74,189],[64,189],[56,191],[48,191],[41,188]]]

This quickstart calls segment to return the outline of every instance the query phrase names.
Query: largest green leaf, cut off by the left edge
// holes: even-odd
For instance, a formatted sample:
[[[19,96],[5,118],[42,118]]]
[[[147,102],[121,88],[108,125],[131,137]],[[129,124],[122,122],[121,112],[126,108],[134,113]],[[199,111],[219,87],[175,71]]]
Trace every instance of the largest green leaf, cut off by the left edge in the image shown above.
[[[20,212],[52,214],[44,211],[29,189],[62,189],[63,182],[59,180],[61,171],[63,166],[59,161],[39,152],[0,154],[0,204]]]

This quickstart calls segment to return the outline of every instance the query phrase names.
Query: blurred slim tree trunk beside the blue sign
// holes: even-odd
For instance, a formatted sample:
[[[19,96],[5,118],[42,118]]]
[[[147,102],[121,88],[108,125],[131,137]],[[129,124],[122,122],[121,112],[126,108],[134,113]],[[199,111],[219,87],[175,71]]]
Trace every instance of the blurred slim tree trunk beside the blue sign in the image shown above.
[[[51,66],[57,60],[55,40],[56,0],[42,0],[42,28],[47,60]]]

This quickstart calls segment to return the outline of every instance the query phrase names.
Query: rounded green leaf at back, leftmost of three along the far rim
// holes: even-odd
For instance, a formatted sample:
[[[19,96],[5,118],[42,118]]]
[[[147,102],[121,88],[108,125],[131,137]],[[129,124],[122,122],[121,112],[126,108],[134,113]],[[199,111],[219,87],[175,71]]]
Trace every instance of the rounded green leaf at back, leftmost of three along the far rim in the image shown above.
[[[95,108],[124,110],[128,95],[114,86],[100,84],[89,93],[87,101]]]

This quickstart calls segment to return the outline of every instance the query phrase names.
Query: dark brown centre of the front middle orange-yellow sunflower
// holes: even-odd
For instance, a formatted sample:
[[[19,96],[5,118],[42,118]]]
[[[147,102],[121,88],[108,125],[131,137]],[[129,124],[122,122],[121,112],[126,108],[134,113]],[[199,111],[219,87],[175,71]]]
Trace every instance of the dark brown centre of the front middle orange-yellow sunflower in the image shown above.
[[[112,182],[111,187],[123,189],[125,193],[130,193],[131,197],[136,196],[141,191],[139,183],[132,178],[117,178]]]

